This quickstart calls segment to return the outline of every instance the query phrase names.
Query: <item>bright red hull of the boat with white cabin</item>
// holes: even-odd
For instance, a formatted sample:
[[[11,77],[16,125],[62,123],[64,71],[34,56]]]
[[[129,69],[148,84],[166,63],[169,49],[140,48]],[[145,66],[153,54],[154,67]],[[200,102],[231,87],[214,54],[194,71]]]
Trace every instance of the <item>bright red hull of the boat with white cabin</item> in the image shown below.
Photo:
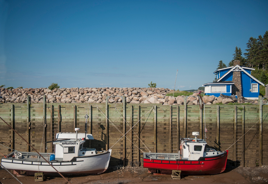
[[[181,170],[184,174],[218,174],[225,170],[228,150],[213,157],[201,157],[198,161],[143,159],[143,167],[158,170]]]

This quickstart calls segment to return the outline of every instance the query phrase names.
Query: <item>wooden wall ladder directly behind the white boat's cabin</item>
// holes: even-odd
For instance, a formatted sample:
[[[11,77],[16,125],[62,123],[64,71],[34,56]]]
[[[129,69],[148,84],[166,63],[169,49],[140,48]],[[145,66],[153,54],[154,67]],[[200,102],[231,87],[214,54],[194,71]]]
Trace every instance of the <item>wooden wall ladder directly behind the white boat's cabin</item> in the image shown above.
[[[58,108],[55,108],[54,105],[50,105],[50,141],[56,140],[56,133],[60,132],[60,105]],[[55,145],[50,143],[50,152],[55,152]]]

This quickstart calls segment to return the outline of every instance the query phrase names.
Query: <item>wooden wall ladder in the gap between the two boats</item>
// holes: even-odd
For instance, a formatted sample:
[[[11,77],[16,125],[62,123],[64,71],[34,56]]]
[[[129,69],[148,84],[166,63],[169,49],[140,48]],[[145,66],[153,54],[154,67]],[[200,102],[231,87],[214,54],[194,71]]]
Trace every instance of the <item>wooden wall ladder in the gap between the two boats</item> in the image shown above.
[[[132,117],[130,126],[134,126],[140,119],[140,106],[132,106]],[[140,166],[140,122],[137,123],[131,130],[131,166]],[[138,147],[138,148],[137,148]]]

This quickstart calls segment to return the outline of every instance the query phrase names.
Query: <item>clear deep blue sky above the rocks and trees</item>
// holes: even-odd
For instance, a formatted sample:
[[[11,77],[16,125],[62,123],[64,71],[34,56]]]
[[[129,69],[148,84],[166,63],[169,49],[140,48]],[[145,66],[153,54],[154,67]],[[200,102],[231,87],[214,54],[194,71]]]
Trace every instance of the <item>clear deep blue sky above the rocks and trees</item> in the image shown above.
[[[0,0],[0,85],[197,89],[268,30],[268,1]]]

